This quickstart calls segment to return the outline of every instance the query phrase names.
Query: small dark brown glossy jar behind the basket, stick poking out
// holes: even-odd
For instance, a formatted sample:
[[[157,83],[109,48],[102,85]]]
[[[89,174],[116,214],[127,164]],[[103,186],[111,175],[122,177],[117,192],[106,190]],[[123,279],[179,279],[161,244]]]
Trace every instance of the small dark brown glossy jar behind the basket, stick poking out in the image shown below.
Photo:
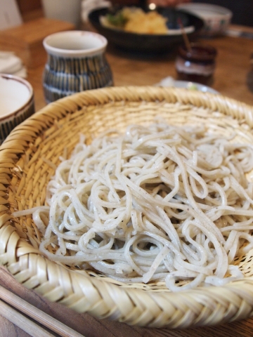
[[[179,46],[176,57],[178,79],[212,84],[216,54],[214,47],[205,44],[190,44],[190,50]]]

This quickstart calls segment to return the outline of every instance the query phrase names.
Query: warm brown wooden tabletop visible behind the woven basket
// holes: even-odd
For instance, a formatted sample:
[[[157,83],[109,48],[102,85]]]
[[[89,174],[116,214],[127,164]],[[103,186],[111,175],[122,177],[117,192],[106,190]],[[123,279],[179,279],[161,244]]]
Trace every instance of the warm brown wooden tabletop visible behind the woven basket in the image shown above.
[[[253,34],[253,28],[231,28]],[[218,51],[212,88],[229,98],[252,105],[253,93],[247,87],[247,74],[250,70],[250,55],[253,53],[253,39],[223,36],[201,41],[211,44]],[[115,86],[153,85],[168,76],[176,79],[175,51],[164,55],[136,55],[108,46],[106,56],[112,68]],[[46,53],[44,60],[46,62]],[[36,110],[46,105],[41,86],[43,70],[43,64],[28,69],[27,80],[34,88]]]

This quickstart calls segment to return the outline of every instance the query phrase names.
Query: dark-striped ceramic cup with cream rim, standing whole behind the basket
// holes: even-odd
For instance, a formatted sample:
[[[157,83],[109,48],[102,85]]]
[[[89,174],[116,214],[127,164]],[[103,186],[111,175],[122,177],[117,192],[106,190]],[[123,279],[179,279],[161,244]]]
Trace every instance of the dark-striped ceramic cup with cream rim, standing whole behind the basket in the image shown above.
[[[68,31],[51,34],[43,41],[48,54],[43,86],[47,103],[79,91],[113,85],[105,58],[107,39],[100,34]]]

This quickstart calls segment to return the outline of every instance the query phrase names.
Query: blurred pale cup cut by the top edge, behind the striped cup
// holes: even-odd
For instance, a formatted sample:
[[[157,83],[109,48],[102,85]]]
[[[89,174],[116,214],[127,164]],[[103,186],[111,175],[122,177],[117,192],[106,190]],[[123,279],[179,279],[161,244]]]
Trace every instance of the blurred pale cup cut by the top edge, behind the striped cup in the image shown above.
[[[82,0],[42,0],[41,4],[46,18],[71,22],[79,27]]]

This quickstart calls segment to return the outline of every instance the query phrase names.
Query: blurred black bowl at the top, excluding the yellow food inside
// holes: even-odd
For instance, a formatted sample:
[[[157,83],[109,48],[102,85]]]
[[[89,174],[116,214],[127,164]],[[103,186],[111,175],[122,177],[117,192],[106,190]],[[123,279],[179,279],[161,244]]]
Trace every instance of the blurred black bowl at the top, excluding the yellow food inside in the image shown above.
[[[115,46],[128,51],[160,52],[169,51],[175,45],[183,43],[182,34],[135,34],[124,32],[119,29],[103,27],[103,25],[100,24],[99,18],[101,15],[106,15],[109,11],[110,13],[114,13],[118,10],[119,7],[100,8],[89,13],[89,22],[91,22],[91,25],[93,25],[101,35],[108,39],[109,44],[114,44]],[[148,11],[148,9],[146,11]],[[156,11],[165,18],[168,18],[167,25],[169,29],[180,29],[178,18],[181,19],[184,27],[194,26],[194,32],[187,34],[190,41],[195,39],[204,26],[204,22],[197,16],[178,9],[156,8]]]

